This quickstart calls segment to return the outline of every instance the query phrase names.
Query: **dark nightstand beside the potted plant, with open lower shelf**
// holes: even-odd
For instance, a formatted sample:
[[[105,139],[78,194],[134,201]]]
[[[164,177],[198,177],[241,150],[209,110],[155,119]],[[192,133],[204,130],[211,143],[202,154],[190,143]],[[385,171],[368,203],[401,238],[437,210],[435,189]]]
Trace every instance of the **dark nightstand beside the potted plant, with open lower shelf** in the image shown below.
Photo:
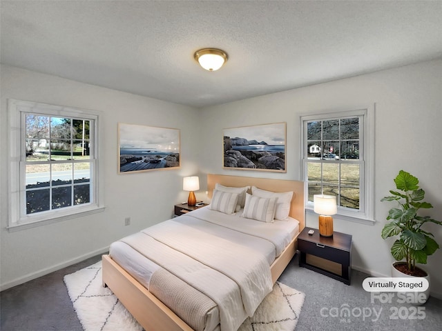
[[[309,236],[307,232],[314,230]],[[350,285],[352,277],[352,236],[333,232],[320,237],[319,230],[304,228],[298,236],[299,266],[320,272]]]

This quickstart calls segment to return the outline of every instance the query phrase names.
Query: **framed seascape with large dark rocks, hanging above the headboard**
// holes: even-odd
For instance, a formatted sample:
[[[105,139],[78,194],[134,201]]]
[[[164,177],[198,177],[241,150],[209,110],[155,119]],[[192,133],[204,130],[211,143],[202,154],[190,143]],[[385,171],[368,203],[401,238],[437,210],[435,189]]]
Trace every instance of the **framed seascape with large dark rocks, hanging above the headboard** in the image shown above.
[[[224,129],[223,169],[286,172],[286,123]]]

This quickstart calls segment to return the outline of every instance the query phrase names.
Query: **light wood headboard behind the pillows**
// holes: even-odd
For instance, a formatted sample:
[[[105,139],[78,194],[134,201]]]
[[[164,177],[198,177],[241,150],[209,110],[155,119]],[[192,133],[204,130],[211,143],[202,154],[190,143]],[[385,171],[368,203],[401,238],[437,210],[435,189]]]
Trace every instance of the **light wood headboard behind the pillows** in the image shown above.
[[[282,179],[227,176],[224,174],[207,174],[207,192],[209,198],[212,197],[215,183],[220,183],[224,186],[231,186],[236,188],[244,186],[256,186],[257,188],[260,188],[262,190],[272,192],[293,191],[294,194],[293,198],[291,199],[289,215],[299,221],[300,231],[302,231],[302,229],[305,227],[304,181],[287,181]],[[249,193],[251,193],[251,191],[249,191]]]

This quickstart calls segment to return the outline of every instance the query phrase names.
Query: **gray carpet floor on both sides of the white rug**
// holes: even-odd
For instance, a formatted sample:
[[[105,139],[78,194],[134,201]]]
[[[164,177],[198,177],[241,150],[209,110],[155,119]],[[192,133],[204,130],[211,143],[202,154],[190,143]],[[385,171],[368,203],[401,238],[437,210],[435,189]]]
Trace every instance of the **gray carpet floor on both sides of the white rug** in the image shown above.
[[[63,277],[99,261],[93,257],[76,265],[48,274],[15,288],[0,293],[1,331],[81,331],[81,324],[69,299]],[[442,325],[442,301],[430,297],[423,306],[424,319],[390,319],[390,308],[410,305],[379,304],[370,302],[370,294],[362,288],[362,281],[368,277],[361,272],[352,272],[352,285],[348,286],[317,272],[298,267],[296,257],[279,281],[305,293],[296,331],[340,331],[340,330],[388,330],[388,331],[436,331]],[[383,308],[381,318],[322,317],[320,312],[329,314],[330,309],[347,307],[357,313],[357,308]],[[402,309],[402,312],[405,310]],[[333,312],[333,310],[332,310]],[[409,313],[410,315],[410,313]]]

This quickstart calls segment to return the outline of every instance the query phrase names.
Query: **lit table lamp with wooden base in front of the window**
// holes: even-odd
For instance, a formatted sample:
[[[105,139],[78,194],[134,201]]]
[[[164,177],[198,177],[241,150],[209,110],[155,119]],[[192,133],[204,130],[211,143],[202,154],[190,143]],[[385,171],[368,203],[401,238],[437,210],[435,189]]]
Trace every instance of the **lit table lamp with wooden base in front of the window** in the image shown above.
[[[314,211],[319,214],[319,234],[322,237],[333,237],[333,217],[338,212],[334,195],[315,194]]]

